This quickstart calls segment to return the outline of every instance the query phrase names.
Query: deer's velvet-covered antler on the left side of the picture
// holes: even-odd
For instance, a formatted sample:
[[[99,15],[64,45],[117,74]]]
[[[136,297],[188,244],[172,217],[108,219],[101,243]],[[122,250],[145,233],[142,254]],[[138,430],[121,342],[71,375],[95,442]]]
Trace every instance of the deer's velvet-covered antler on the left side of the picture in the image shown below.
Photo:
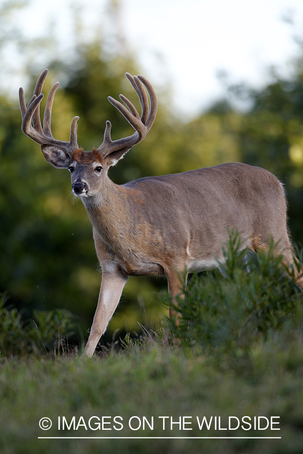
[[[23,88],[19,89],[19,101],[22,115],[22,132],[40,145],[54,145],[64,150],[68,155],[79,148],[77,144],[77,121],[79,117],[74,117],[71,124],[71,135],[69,142],[62,142],[54,139],[51,131],[52,107],[55,93],[59,87],[57,82],[49,92],[44,110],[43,129],[40,121],[40,102],[43,94],[41,93],[48,70],[44,70],[37,80],[34,95],[26,107]]]

